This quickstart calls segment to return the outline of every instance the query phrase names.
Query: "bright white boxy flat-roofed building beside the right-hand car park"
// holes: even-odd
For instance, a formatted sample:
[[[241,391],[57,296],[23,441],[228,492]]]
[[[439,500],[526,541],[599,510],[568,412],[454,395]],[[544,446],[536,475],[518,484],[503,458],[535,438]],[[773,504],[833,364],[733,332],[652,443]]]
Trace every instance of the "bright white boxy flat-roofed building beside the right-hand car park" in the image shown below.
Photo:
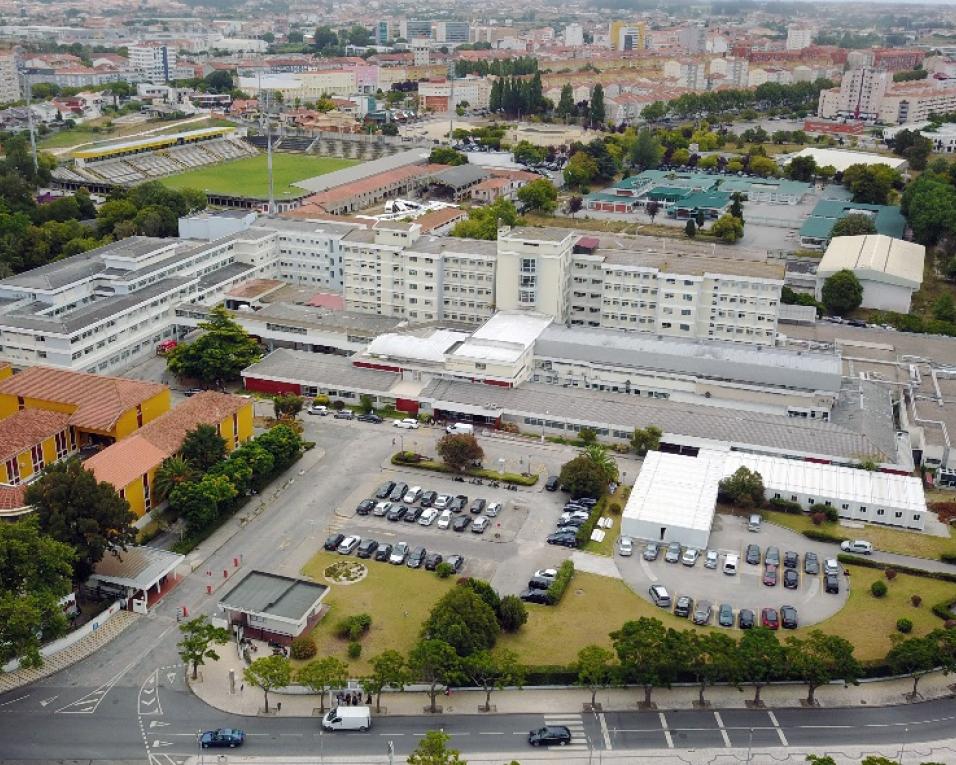
[[[725,455],[648,452],[621,519],[621,533],[703,549],[710,539]]]

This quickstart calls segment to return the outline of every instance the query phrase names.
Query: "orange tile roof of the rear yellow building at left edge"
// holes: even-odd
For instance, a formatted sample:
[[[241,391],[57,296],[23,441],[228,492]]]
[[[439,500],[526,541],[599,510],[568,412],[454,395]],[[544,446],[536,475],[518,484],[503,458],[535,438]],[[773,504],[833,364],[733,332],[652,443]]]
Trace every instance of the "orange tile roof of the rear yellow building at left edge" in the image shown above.
[[[124,412],[164,390],[159,383],[51,367],[30,367],[0,380],[0,394],[72,404],[71,425],[100,431],[112,430]]]

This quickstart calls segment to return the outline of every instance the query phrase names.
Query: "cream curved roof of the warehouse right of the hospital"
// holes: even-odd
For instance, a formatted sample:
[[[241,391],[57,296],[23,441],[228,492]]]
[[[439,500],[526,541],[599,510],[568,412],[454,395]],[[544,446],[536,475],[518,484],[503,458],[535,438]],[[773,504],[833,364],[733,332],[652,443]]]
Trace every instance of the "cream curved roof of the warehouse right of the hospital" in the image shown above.
[[[919,289],[923,283],[926,248],[882,234],[838,236],[830,242],[820,260],[817,275],[829,275],[844,268],[857,277]]]

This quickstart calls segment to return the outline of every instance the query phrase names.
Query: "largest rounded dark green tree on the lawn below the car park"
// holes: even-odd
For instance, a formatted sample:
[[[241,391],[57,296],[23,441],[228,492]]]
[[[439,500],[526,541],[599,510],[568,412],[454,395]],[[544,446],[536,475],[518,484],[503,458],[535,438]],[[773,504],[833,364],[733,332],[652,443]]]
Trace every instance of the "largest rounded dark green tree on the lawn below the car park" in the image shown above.
[[[495,610],[470,587],[453,587],[432,607],[422,638],[447,643],[459,656],[493,648],[501,627]]]

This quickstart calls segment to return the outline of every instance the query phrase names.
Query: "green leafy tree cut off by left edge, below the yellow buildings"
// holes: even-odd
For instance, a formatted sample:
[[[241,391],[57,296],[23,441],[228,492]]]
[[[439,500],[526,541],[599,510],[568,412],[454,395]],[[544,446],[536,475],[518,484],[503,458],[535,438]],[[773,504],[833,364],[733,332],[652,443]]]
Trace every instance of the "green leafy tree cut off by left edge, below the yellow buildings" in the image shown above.
[[[41,666],[41,643],[66,632],[60,599],[70,592],[73,559],[68,544],[40,533],[35,516],[0,523],[0,666]]]

